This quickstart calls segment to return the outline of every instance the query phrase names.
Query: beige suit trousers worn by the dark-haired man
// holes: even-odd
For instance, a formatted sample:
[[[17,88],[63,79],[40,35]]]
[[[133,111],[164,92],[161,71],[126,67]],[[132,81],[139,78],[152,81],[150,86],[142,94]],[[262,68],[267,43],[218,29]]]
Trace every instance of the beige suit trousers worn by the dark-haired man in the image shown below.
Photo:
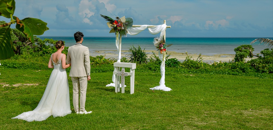
[[[85,112],[87,76],[71,77],[73,84],[73,107],[75,112]],[[80,97],[80,107],[79,107]]]

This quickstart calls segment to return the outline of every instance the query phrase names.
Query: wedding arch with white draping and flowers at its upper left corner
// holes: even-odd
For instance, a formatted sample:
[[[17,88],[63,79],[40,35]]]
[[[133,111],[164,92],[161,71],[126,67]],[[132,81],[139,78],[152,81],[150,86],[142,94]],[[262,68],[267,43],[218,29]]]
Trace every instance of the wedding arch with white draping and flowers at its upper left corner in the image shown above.
[[[106,21],[109,21],[109,22],[107,22],[108,27],[111,28],[109,33],[115,32],[115,34],[116,34],[116,47],[117,47],[117,53],[118,53],[117,62],[121,62],[121,40],[122,40],[121,38],[122,38],[122,36],[126,36],[126,34],[137,35],[141,31],[148,28],[150,34],[155,35],[155,34],[160,33],[159,38],[166,40],[166,28],[171,27],[171,26],[166,25],[166,20],[164,20],[164,23],[162,25],[131,25],[130,27],[128,27],[125,24],[126,23],[127,23],[127,25],[130,24],[127,21],[130,22],[131,19],[127,20],[127,18],[125,18],[125,16],[123,16],[122,18],[116,17],[117,20],[115,20],[115,21],[112,18],[109,18],[107,16],[103,16],[103,15],[101,15],[101,16],[103,18],[105,18]],[[125,19],[126,19],[126,21],[125,21]],[[133,23],[133,21],[132,21],[132,23]],[[122,25],[124,25],[124,26],[122,26]],[[124,29],[125,32],[121,32],[121,31],[123,31],[122,29]],[[159,59],[161,60],[161,65],[160,65],[161,79],[159,81],[159,86],[156,86],[156,87],[150,88],[150,89],[151,90],[170,91],[172,89],[166,87],[166,85],[165,85],[165,61],[166,61],[165,58],[166,58],[166,55],[164,55],[164,53],[160,53],[160,51],[158,51],[158,55],[159,55]],[[112,76],[112,81],[113,81],[113,83],[107,84],[106,86],[107,87],[109,87],[109,86],[115,87],[115,75],[114,74]]]

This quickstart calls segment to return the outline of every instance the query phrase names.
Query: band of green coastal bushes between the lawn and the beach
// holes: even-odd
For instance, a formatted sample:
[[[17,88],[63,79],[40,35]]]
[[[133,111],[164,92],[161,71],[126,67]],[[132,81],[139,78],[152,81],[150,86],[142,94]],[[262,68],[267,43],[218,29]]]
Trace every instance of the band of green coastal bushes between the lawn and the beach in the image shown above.
[[[19,39],[24,39],[24,35],[15,34]],[[19,69],[35,69],[35,70],[46,70],[50,55],[56,50],[54,44],[57,40],[45,39],[35,37],[35,44],[27,42],[27,39],[21,42],[14,42],[19,48],[17,54],[7,60],[1,60],[0,68],[19,68]],[[245,47],[245,48],[244,48]],[[248,49],[247,49],[248,47]],[[67,48],[65,48],[64,53],[67,54]],[[170,58],[166,56],[166,75],[170,72],[179,73],[200,73],[200,74],[223,74],[223,75],[249,75],[256,77],[273,77],[273,49],[264,49],[261,51],[258,58],[252,59],[245,62],[244,55],[251,55],[250,51],[252,49],[251,45],[244,45],[236,50],[236,53],[240,53],[238,60],[233,60],[230,62],[214,62],[208,64],[203,62],[202,55],[200,54],[197,59],[193,59],[191,56],[187,55],[184,62],[179,62],[176,58]],[[144,49],[145,50],[145,49]],[[161,61],[159,57],[152,52],[150,57],[147,53],[139,47],[131,48],[130,57],[122,57],[121,62],[134,62],[137,63],[136,71],[138,72],[148,72],[148,73],[160,73]],[[130,53],[129,52],[129,53]],[[138,55],[140,57],[138,57]],[[141,57],[142,56],[142,57]],[[253,55],[255,56],[255,55]],[[112,72],[113,63],[116,62],[114,58],[105,58],[105,55],[98,55],[96,57],[90,57],[91,73],[103,73]],[[70,68],[67,68],[67,72]],[[269,75],[268,75],[269,74]]]

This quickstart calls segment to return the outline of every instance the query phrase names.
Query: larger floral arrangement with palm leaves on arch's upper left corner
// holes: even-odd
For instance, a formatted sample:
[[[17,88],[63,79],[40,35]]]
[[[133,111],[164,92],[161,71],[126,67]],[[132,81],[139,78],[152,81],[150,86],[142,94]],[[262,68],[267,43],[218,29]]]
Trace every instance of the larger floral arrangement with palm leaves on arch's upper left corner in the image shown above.
[[[133,19],[132,18],[125,18],[125,16],[119,18],[116,17],[116,20],[101,15],[107,22],[108,27],[111,29],[109,33],[115,33],[120,34],[120,36],[127,36],[127,29],[131,28],[133,25]]]

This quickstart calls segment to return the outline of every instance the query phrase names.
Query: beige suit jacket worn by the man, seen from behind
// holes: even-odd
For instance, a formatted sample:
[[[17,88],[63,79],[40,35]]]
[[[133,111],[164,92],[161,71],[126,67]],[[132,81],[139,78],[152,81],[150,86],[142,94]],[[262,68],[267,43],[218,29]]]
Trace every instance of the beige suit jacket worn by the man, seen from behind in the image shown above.
[[[67,64],[71,62],[70,77],[83,77],[90,75],[89,49],[80,43],[68,48]]]

